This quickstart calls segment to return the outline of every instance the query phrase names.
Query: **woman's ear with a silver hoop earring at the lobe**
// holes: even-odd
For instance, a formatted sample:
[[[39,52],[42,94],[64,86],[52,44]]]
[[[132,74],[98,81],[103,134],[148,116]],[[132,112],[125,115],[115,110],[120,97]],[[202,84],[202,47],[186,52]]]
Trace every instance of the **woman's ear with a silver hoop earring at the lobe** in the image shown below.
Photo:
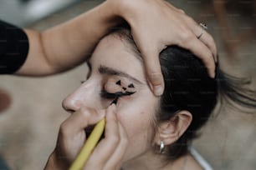
[[[182,110],[166,122],[161,122],[157,127],[155,143],[165,145],[175,143],[182,136],[192,122],[192,113]]]

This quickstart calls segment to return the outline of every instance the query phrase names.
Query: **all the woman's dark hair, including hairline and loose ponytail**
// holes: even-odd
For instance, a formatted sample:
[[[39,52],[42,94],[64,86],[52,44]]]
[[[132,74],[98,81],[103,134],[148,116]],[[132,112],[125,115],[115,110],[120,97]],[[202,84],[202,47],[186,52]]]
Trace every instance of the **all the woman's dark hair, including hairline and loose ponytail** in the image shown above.
[[[128,42],[131,50],[141,55],[129,29],[117,28],[112,33]],[[202,61],[182,47],[166,47],[159,57],[165,90],[161,96],[156,121],[170,120],[180,110],[192,113],[192,123],[187,131],[165,150],[169,160],[187,153],[187,146],[193,138],[197,138],[197,130],[207,122],[218,101],[220,108],[224,100],[229,106],[238,109],[256,108],[256,92],[246,87],[250,83],[248,79],[230,76],[221,71],[218,65],[216,77],[211,78]]]

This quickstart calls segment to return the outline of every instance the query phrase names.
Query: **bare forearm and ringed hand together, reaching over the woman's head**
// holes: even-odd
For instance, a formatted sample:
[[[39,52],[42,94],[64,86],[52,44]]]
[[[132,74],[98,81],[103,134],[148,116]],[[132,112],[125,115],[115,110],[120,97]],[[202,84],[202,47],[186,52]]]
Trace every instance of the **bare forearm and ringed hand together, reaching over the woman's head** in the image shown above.
[[[182,10],[163,0],[107,0],[44,32],[25,29],[30,45],[28,59],[17,74],[46,76],[75,67],[84,62],[110,28],[123,21],[131,25],[145,62],[146,80],[155,95],[161,95],[164,89],[158,54],[167,45],[178,45],[194,52],[214,77],[213,57],[217,50],[212,37],[204,32],[197,39],[202,28]]]

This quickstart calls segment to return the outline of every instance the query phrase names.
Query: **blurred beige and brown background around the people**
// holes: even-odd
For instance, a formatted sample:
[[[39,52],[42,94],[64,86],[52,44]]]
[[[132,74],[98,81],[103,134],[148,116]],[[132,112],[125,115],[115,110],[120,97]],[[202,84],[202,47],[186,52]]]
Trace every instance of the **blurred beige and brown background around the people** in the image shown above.
[[[23,28],[43,31],[84,13],[102,1],[0,0],[0,18]],[[256,1],[170,1],[198,23],[207,23],[218,46],[221,68],[251,77],[256,88]],[[69,116],[61,107],[65,96],[85,79],[84,65],[56,76],[1,76],[0,155],[10,169],[43,169],[53,151],[59,125]],[[256,112],[255,112],[256,113]],[[224,109],[215,112],[202,136],[193,142],[218,170],[256,169],[256,114]]]

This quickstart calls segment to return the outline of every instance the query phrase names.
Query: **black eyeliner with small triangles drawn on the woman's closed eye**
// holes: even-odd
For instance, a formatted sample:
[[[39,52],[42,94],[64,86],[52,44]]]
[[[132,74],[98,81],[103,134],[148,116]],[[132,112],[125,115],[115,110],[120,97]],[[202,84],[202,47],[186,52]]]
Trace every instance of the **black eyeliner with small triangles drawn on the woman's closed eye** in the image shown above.
[[[117,84],[117,85],[119,85],[120,87],[122,87],[120,80],[117,81],[117,82],[115,82],[115,84]],[[131,85],[131,84],[130,84],[130,85]],[[129,86],[130,86],[130,85],[129,85]],[[132,85],[133,85],[133,84],[132,84]],[[134,87],[134,86],[133,86],[133,87]],[[111,93],[111,92],[106,92],[105,89],[103,89],[103,90],[100,92],[100,96],[101,96],[101,97],[104,97],[104,98],[108,98],[108,99],[114,99],[113,102],[111,102],[111,104],[113,104],[113,103],[116,104],[119,97],[131,96],[132,94],[135,93],[135,92],[126,91],[126,90],[127,90],[126,87],[122,87],[122,88],[125,90],[125,92],[114,92],[114,93]],[[110,104],[110,105],[111,105],[111,104]]]

